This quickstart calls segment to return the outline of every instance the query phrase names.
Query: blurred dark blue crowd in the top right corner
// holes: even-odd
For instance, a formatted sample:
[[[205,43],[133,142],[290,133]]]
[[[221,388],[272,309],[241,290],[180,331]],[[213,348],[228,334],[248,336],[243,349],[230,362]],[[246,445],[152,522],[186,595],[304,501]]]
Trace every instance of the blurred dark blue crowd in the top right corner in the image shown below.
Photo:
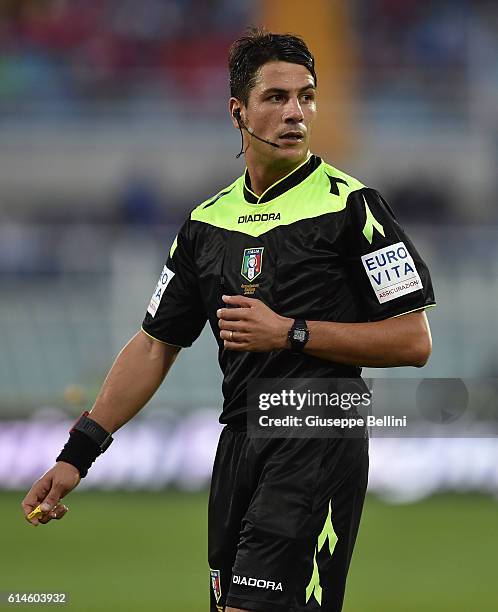
[[[357,0],[356,9],[367,95],[454,114],[464,110],[476,69],[498,82],[495,2]]]

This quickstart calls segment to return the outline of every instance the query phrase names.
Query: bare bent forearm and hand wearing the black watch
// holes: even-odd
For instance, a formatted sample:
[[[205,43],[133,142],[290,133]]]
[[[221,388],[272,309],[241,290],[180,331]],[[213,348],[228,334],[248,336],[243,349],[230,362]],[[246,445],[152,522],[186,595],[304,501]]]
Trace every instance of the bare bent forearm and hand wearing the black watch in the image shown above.
[[[220,337],[234,351],[267,352],[290,348],[287,333],[293,319],[282,317],[260,300],[224,296],[238,308],[218,311]],[[425,312],[368,323],[307,321],[305,352],[320,359],[365,367],[423,366],[431,354]],[[231,333],[233,332],[233,334]]]

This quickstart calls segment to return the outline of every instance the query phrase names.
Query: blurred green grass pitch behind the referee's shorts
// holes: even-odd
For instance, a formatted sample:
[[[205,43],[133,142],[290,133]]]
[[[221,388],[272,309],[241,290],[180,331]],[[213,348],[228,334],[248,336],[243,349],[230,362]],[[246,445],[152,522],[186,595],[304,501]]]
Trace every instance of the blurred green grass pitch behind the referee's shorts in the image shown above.
[[[23,495],[0,493],[0,592],[65,591],[63,609],[81,612],[208,610],[205,494],[75,492],[64,520],[37,528]],[[497,511],[484,497],[370,497],[344,612],[497,610]]]

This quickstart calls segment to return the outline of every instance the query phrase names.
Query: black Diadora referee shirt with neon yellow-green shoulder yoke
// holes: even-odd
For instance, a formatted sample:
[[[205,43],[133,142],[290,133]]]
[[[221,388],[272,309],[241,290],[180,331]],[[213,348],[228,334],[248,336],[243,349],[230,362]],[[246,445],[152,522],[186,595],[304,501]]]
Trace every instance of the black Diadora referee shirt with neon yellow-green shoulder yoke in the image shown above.
[[[222,423],[244,415],[250,379],[360,375],[360,368],[287,350],[224,350],[216,316],[223,294],[258,298],[286,317],[342,323],[435,303],[427,266],[382,196],[315,155],[259,197],[246,171],[195,208],[171,246],[142,328],[187,347],[209,320],[224,376]]]

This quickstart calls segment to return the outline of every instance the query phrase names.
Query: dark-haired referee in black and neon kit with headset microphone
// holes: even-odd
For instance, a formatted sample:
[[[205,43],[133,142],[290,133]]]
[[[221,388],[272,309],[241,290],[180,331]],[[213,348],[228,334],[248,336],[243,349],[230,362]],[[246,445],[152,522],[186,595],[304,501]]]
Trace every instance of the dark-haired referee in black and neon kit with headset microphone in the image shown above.
[[[28,519],[60,500],[152,397],[209,321],[225,424],[209,501],[212,612],[337,612],[360,522],[368,441],[252,438],[247,384],[357,378],[423,366],[431,279],[382,196],[310,152],[314,58],[292,35],[252,30],[229,57],[244,174],[195,208],[174,240],[139,331],[90,413],[27,494]]]

